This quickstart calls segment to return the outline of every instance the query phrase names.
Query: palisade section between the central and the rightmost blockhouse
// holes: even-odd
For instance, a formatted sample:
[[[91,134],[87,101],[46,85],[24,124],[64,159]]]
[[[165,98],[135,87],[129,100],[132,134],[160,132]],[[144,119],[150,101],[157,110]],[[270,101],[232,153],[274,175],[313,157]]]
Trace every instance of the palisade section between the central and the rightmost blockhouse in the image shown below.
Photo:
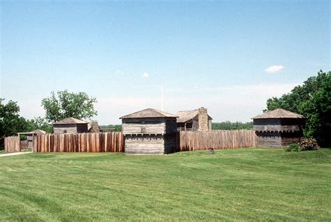
[[[207,150],[208,148],[219,150],[253,147],[256,147],[256,134],[253,130],[214,130],[177,133],[177,152]]]

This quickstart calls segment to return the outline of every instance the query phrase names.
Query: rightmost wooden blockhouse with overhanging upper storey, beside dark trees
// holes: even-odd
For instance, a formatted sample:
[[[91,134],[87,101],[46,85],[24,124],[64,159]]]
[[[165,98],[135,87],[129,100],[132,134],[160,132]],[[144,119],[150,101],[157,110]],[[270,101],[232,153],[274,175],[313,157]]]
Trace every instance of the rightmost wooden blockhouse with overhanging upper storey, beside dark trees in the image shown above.
[[[302,137],[304,117],[284,109],[275,109],[253,119],[258,147],[281,148]]]

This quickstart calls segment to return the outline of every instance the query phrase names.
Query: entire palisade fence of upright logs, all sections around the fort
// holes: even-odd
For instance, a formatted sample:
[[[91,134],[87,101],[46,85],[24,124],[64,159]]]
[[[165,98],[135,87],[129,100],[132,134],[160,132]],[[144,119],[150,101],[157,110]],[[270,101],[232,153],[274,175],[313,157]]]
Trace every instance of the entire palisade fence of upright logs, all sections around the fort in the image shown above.
[[[176,151],[256,147],[253,130],[178,132]],[[20,152],[18,136],[5,138],[6,152]],[[124,152],[122,132],[83,134],[39,134],[34,136],[34,152]]]

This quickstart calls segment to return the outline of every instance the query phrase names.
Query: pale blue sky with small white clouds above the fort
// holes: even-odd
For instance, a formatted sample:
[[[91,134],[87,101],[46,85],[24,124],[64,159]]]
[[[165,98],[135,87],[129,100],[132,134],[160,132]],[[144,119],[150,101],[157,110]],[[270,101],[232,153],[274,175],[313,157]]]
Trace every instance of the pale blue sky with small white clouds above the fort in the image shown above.
[[[0,97],[44,116],[52,91],[86,92],[101,125],[146,108],[204,106],[251,121],[330,71],[330,1],[0,1]]]

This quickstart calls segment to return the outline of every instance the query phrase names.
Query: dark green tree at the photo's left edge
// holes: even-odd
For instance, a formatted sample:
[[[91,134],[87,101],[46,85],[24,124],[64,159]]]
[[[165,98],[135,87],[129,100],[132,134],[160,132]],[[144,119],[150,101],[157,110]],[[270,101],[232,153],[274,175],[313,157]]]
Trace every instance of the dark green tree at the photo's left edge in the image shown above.
[[[12,100],[3,104],[4,99],[0,98],[0,138],[13,136],[17,132],[27,129],[27,121],[20,117],[20,106]]]

